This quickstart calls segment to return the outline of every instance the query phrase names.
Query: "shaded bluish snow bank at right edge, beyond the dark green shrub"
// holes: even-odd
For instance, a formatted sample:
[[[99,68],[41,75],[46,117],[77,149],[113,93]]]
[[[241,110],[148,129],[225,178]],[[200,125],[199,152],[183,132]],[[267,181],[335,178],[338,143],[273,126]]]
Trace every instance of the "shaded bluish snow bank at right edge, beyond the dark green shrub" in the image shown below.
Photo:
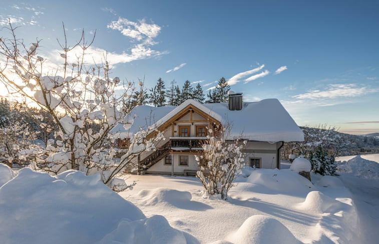
[[[379,179],[379,163],[363,159],[360,155],[343,162],[336,162],[338,173],[351,173],[365,179]]]

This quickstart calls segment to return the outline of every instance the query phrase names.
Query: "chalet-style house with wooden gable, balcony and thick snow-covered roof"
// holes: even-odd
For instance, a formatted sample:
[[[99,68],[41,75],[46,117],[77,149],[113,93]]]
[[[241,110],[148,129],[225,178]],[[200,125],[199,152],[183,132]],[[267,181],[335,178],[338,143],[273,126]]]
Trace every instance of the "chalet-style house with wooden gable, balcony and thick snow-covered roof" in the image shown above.
[[[166,140],[154,152],[144,152],[140,166],[145,173],[186,174],[197,170],[195,155],[206,139],[209,125],[231,125],[227,139],[247,140],[245,165],[280,169],[280,148],[284,142],[303,141],[301,129],[277,99],[242,102],[242,93],[229,94],[228,103],[201,104],[188,99],[179,106],[135,107],[129,115],[134,123],[128,130],[117,125],[111,132],[125,135],[146,126],[163,132]]]

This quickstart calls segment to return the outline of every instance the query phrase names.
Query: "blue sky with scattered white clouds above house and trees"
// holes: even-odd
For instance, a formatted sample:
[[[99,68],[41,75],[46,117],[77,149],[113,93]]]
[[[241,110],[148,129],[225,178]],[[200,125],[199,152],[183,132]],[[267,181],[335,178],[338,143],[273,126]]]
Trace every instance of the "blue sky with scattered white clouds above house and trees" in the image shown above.
[[[124,80],[206,91],[224,76],[245,101],[278,98],[298,125],[379,132],[378,1],[0,3],[0,25],[10,17],[25,42],[42,38],[46,56],[59,55],[64,22],[71,41],[96,30],[91,50]]]

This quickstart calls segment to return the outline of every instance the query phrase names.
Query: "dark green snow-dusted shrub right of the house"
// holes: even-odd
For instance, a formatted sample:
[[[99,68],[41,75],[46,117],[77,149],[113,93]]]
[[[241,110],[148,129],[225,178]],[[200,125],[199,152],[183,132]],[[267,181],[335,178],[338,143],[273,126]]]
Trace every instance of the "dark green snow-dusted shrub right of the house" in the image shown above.
[[[328,155],[323,147],[310,151],[306,158],[310,161],[312,171],[320,175],[333,175],[336,169],[335,159]]]

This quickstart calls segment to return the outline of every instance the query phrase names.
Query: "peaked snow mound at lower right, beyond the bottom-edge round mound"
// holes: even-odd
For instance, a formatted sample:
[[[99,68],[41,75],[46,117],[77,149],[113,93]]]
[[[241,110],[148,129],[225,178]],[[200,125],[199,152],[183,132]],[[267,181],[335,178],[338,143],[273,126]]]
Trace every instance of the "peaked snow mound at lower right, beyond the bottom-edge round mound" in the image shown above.
[[[332,199],[322,192],[312,191],[308,193],[303,203],[295,206],[298,210],[310,211],[313,213],[331,213],[338,209],[341,209],[341,202]]]

